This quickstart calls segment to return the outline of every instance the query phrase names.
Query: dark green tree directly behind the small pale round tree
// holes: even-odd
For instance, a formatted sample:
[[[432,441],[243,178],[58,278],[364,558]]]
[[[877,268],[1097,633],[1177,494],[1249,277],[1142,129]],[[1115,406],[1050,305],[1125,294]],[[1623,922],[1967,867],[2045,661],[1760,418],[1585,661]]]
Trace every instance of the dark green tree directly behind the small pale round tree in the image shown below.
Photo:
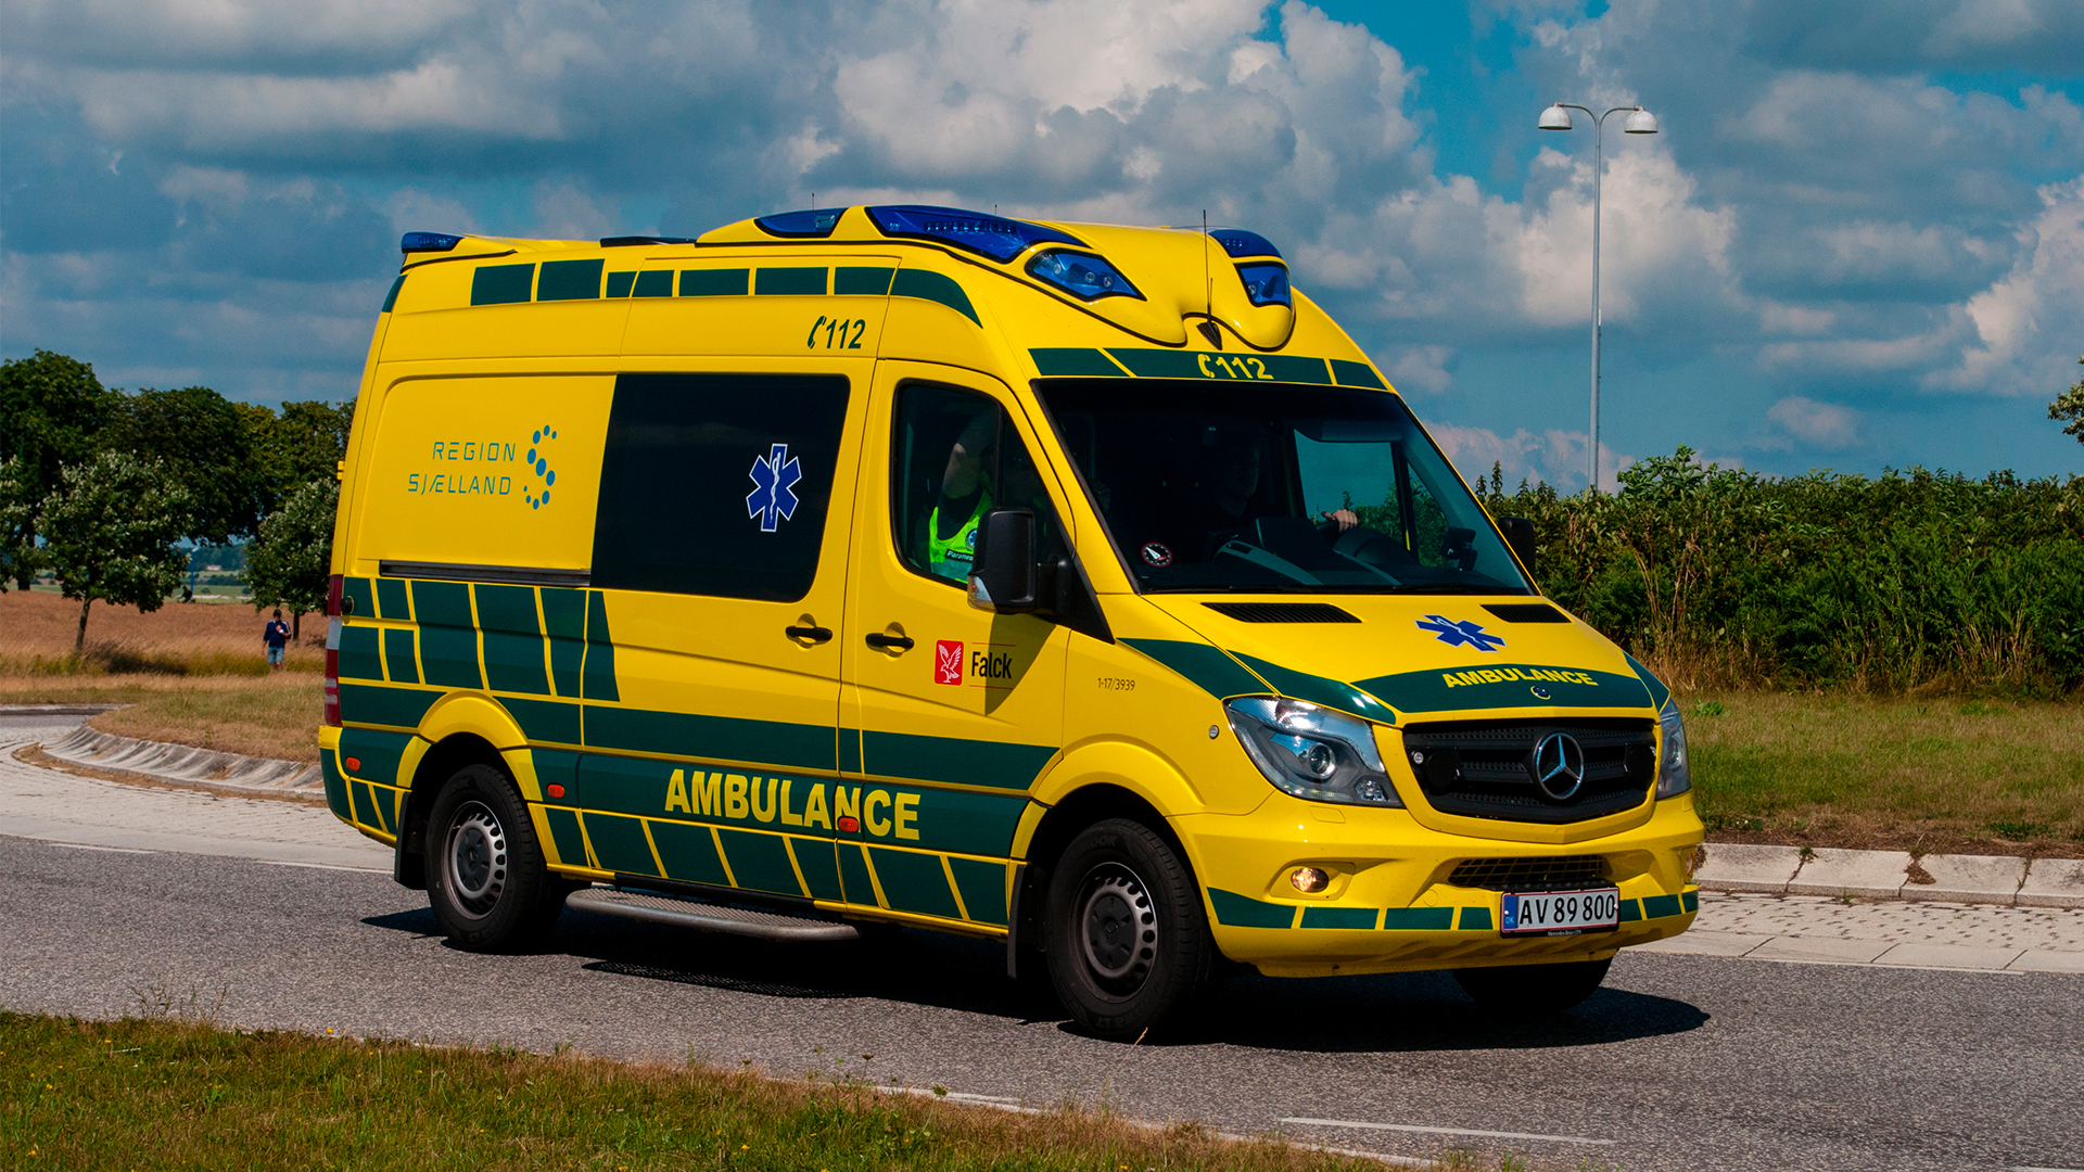
[[[206,386],[125,394],[104,446],[165,461],[167,475],[192,500],[183,536],[225,542],[260,528],[252,428],[223,394]]]

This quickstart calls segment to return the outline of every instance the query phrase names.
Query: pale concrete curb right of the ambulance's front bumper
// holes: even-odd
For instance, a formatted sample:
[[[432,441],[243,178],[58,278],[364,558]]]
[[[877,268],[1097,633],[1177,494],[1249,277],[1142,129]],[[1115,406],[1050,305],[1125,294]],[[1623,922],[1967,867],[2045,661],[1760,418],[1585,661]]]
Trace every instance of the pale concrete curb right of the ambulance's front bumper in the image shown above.
[[[1709,843],[1701,890],[2084,907],[2084,859],[1919,855]]]

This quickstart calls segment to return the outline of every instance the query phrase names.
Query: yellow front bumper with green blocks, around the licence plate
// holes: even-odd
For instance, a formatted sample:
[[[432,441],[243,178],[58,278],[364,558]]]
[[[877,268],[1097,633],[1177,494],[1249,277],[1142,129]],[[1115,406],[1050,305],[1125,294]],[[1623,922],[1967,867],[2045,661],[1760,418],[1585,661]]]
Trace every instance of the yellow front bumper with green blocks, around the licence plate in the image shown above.
[[[1690,795],[1655,803],[1630,830],[1569,845],[1442,834],[1403,809],[1332,807],[1273,795],[1248,815],[1173,820],[1225,957],[1267,976],[1330,976],[1555,963],[1611,957],[1684,932],[1698,909],[1688,882],[1703,826]],[[1503,936],[1498,890],[1448,882],[1467,859],[1598,855],[1621,924],[1578,936]],[[1300,865],[1330,872],[1317,895],[1288,884]]]

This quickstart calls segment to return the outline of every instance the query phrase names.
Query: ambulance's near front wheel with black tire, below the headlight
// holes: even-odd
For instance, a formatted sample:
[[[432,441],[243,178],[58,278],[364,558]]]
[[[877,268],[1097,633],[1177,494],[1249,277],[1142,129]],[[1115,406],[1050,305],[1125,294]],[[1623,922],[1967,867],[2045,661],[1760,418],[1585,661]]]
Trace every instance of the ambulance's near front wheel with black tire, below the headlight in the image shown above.
[[[1134,1041],[1209,980],[1215,941],[1180,853],[1125,817],[1065,847],[1044,909],[1050,984],[1080,1028]]]

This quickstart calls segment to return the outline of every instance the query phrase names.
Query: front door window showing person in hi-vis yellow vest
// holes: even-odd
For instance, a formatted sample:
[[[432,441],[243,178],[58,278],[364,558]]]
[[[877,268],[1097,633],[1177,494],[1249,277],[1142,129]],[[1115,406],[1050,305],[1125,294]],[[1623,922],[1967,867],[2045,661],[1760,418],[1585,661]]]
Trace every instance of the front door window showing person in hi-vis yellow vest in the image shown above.
[[[1000,507],[1027,505],[1040,555],[1063,555],[1063,526],[1042,473],[1002,407],[946,386],[898,392],[890,505],[898,555],[929,578],[961,586],[977,548],[977,521]]]

